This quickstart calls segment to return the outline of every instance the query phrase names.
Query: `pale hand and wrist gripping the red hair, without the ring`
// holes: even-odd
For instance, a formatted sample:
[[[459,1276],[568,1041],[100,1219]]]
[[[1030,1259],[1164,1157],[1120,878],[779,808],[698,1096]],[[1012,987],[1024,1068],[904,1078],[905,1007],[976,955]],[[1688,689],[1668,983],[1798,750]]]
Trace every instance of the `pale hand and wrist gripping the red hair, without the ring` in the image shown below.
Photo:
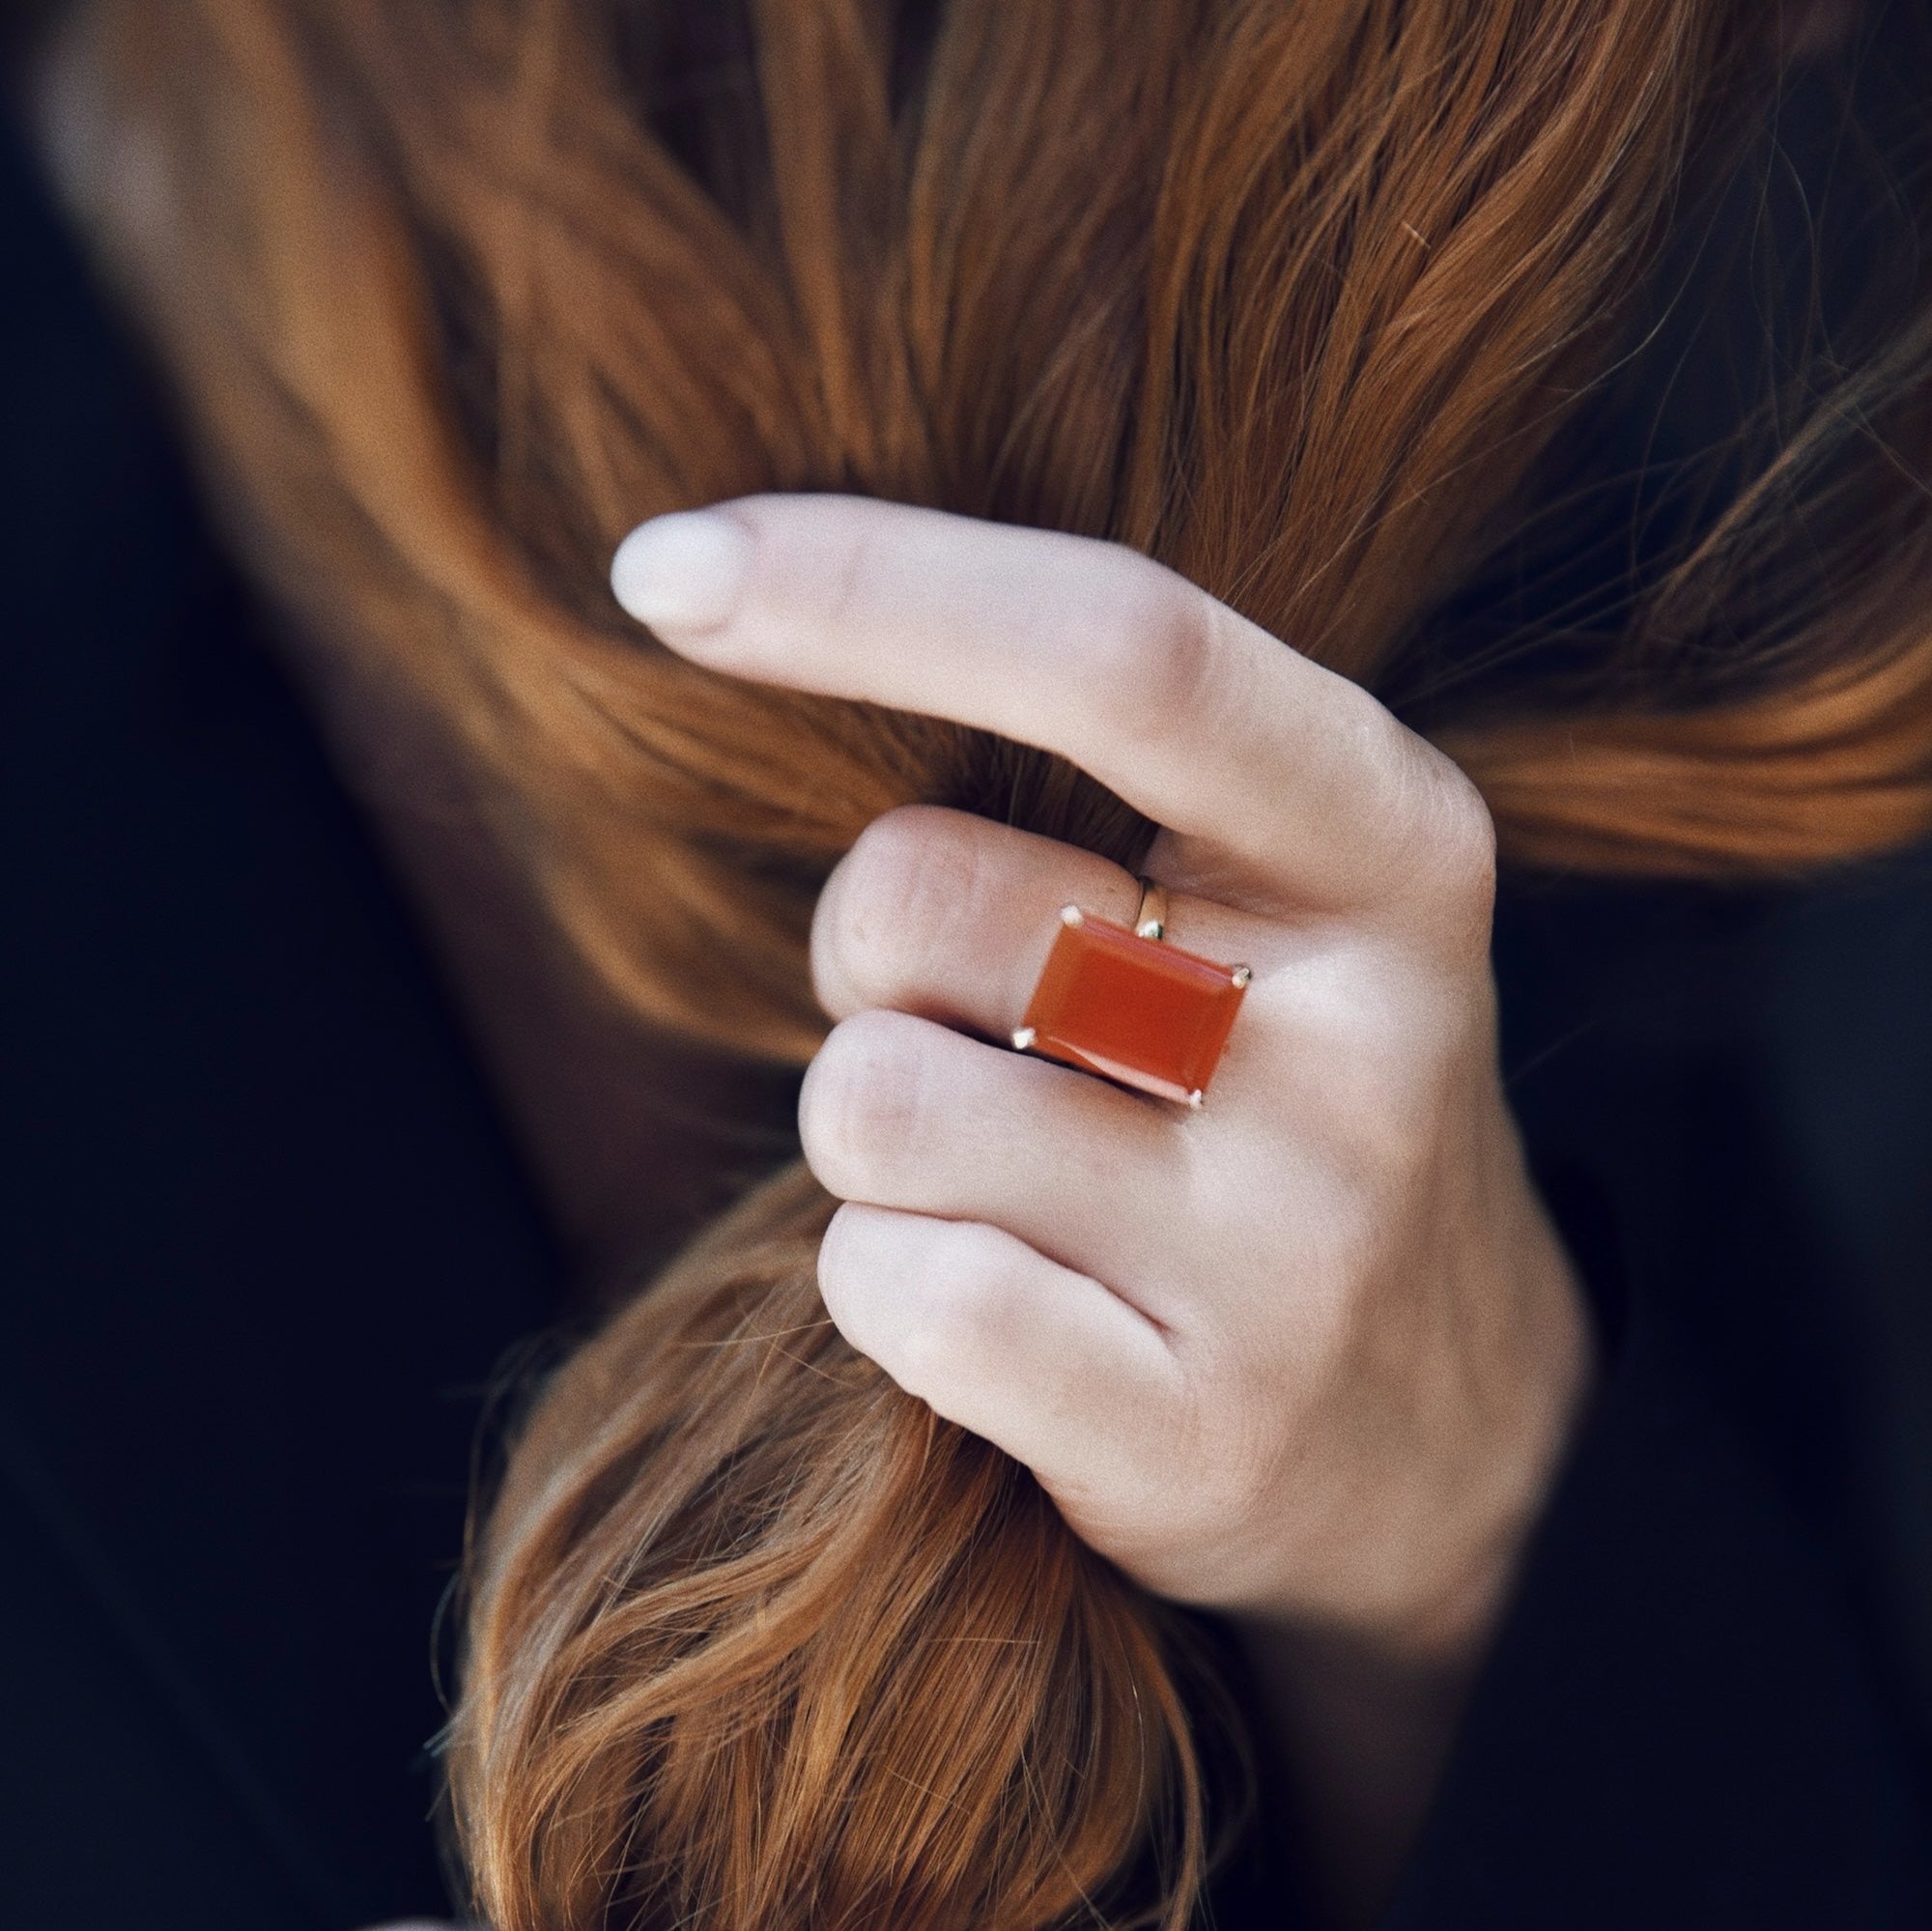
[[[1124,548],[838,496],[643,525],[614,587],[730,676],[1057,751],[1254,981],[1198,1112],[1010,1050],[1132,875],[931,807],[837,867],[800,1101],[850,1344],[1246,1641],[1343,1919],[1385,1894],[1590,1379],[1501,1091],[1493,844],[1356,686]]]

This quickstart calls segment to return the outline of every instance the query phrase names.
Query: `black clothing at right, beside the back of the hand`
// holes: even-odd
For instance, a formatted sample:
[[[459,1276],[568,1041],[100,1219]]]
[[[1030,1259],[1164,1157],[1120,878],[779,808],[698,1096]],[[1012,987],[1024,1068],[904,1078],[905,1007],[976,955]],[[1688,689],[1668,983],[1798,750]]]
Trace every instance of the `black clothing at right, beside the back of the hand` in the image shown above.
[[[1932,1925],[1932,867],[1495,954],[1605,1375],[1391,1925]]]

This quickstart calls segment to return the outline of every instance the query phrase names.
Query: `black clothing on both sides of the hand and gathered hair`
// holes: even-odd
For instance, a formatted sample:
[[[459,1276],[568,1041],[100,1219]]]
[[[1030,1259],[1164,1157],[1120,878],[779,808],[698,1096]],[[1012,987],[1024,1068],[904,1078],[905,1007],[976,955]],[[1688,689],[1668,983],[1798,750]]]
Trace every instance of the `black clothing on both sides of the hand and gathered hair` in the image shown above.
[[[17,156],[0,1931],[439,1910],[431,1618],[560,1305],[365,828]],[[1391,1912],[1932,1925],[1932,867],[1505,894],[1607,1365]]]

